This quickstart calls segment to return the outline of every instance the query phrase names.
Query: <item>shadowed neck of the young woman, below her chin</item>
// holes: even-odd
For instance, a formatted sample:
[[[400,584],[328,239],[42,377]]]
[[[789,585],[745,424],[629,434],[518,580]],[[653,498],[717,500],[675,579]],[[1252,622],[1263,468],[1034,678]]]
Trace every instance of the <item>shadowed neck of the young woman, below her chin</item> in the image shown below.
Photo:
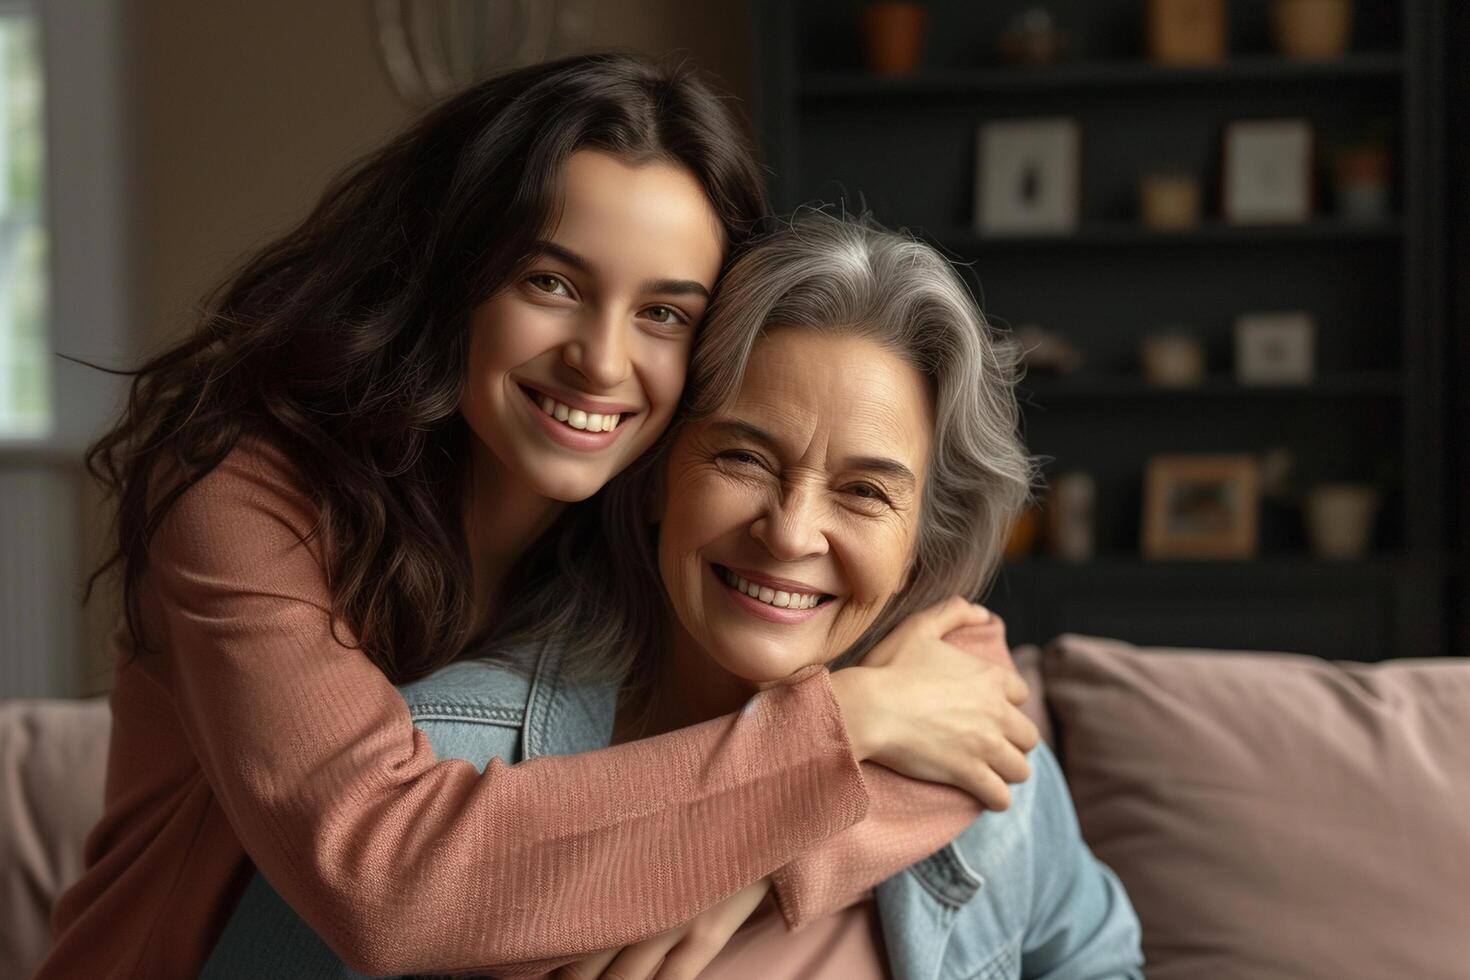
[[[526,486],[482,442],[475,442],[465,494],[465,533],[475,582],[476,632],[492,621],[510,569],[563,510],[564,502]]]

